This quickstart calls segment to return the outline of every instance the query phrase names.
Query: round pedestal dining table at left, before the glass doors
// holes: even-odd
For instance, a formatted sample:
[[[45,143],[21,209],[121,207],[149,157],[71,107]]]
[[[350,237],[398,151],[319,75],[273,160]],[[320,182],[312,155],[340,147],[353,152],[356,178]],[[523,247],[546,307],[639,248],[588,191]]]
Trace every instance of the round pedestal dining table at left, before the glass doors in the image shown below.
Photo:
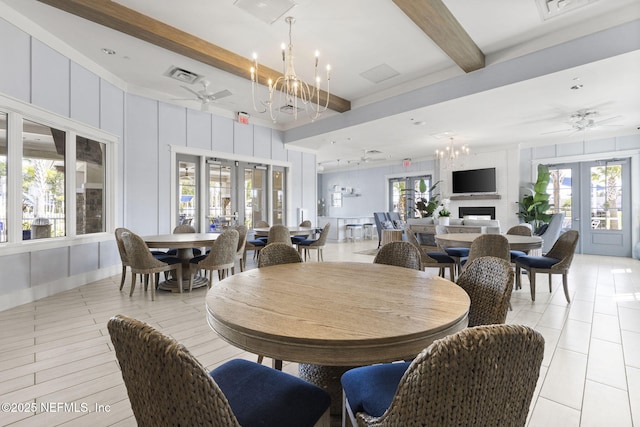
[[[182,288],[189,289],[189,261],[193,258],[193,248],[211,246],[220,233],[174,233],[143,236],[142,239],[149,248],[175,248],[176,257],[182,260]],[[208,280],[196,275],[193,279],[193,287],[206,286]],[[180,292],[178,281],[169,276],[167,280],[158,285],[159,289],[172,292]]]

